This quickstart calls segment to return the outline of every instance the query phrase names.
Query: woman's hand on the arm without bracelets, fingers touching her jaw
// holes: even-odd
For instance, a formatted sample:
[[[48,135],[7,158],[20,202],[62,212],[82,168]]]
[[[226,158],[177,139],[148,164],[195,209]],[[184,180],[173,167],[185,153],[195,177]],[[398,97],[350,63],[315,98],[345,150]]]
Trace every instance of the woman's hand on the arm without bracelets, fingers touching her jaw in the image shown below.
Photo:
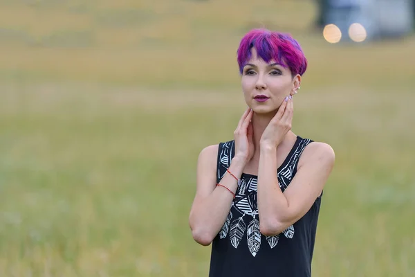
[[[294,104],[293,98],[287,96],[279,106],[277,114],[270,120],[261,136],[259,144],[261,147],[276,148],[284,139],[284,136],[291,130],[293,122]]]

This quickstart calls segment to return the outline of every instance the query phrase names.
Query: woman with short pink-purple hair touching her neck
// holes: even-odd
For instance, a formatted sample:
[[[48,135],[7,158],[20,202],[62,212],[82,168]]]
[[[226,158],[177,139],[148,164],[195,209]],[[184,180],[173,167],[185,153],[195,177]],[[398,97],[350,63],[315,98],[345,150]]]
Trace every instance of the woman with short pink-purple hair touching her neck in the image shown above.
[[[290,35],[255,29],[238,48],[248,105],[234,140],[204,148],[190,228],[210,245],[210,276],[311,276],[330,145],[291,131],[307,60]]]

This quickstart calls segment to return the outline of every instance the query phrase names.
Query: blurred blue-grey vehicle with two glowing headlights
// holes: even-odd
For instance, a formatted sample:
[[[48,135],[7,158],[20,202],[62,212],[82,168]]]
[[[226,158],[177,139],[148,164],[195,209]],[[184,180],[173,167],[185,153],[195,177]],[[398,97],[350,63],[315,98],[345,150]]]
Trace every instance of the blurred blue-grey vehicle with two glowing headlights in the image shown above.
[[[328,42],[403,37],[414,30],[415,0],[320,0],[317,24]]]

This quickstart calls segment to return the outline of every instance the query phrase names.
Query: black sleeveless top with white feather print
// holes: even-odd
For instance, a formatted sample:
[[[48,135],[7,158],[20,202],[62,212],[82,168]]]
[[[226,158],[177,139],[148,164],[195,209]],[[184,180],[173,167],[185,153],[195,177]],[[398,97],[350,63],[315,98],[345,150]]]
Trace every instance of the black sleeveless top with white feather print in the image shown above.
[[[310,139],[297,136],[295,145],[277,169],[284,192],[297,172],[300,155]],[[234,141],[219,143],[216,181],[234,157]],[[300,220],[279,235],[259,232],[257,176],[243,173],[228,218],[212,242],[210,277],[308,277],[322,195]]]

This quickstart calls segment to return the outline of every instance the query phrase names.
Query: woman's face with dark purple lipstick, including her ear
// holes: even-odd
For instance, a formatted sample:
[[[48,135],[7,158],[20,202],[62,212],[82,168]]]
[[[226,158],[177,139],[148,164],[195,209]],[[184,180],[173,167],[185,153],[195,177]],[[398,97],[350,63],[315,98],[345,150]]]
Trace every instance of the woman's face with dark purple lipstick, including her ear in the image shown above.
[[[251,53],[242,72],[243,95],[246,104],[255,113],[268,114],[276,111],[286,96],[294,95],[301,76],[297,74],[293,78],[290,69],[274,60],[264,62],[261,57],[257,57],[255,48],[252,48]]]

